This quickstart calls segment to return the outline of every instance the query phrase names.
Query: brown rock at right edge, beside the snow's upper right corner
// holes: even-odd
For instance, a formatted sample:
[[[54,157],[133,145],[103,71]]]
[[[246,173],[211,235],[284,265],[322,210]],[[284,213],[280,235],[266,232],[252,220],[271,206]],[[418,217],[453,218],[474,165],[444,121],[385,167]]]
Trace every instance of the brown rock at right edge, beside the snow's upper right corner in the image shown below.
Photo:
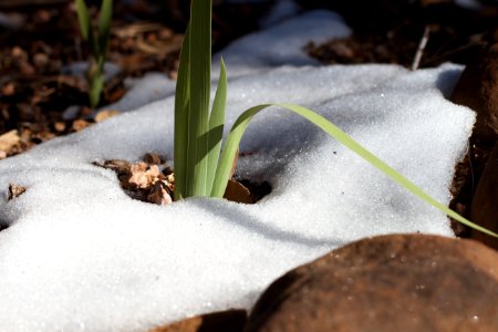
[[[498,43],[485,48],[464,70],[450,98],[477,113],[474,133],[483,139],[498,137]]]

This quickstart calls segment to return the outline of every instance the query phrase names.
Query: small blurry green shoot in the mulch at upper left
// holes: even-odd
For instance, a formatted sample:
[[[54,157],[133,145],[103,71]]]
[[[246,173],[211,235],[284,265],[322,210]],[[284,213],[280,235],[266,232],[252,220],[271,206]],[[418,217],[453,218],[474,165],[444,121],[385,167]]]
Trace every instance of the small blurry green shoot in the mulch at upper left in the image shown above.
[[[107,54],[107,44],[111,35],[111,19],[113,15],[113,1],[103,0],[98,15],[98,27],[92,25],[92,19],[84,0],[75,0],[80,32],[90,49],[90,65],[86,72],[89,83],[90,106],[96,107],[104,89],[104,63]]]

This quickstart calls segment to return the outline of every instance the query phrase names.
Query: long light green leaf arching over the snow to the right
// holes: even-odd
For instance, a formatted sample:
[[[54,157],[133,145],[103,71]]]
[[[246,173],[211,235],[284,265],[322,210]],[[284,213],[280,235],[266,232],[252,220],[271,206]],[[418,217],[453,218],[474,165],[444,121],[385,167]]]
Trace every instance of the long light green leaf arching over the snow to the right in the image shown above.
[[[249,125],[252,117],[258,114],[260,111],[269,107],[269,106],[280,106],[283,108],[287,108],[289,111],[292,111],[311,123],[315,124],[320,128],[322,128],[324,132],[326,132],[329,135],[341,142],[343,145],[349,147],[351,151],[360,155],[362,158],[364,158],[366,162],[369,162],[371,165],[390,176],[393,180],[398,183],[401,186],[405,187],[407,190],[409,190],[412,194],[417,196],[418,198],[425,200],[429,205],[434,206],[442,212],[446,214],[447,216],[454,218],[455,220],[458,220],[459,222],[467,225],[478,231],[481,231],[484,234],[498,237],[497,234],[480,227],[477,224],[471,222],[470,220],[461,217],[457,212],[453,211],[445,205],[440,204],[429,195],[427,195],[424,190],[422,190],[418,186],[413,184],[411,180],[408,180],[406,177],[397,173],[394,168],[388,166],[386,163],[382,162],[380,158],[374,156],[371,152],[369,152],[366,148],[364,148],[362,145],[356,143],[353,138],[351,138],[346,133],[341,131],[338,126],[335,126],[333,123],[324,118],[323,116],[317,114],[315,112],[299,106],[294,104],[263,104],[258,105],[255,107],[251,107],[243,112],[234,124],[230,134],[227,137],[227,142],[225,144],[224,151],[221,153],[221,157],[219,160],[218,169],[216,173],[215,178],[215,186],[212,188],[212,196],[214,197],[222,197],[225,189],[227,187],[228,177],[230,174],[230,169],[232,166],[234,158],[236,156],[240,139],[243,135],[243,132],[246,131],[247,126]]]

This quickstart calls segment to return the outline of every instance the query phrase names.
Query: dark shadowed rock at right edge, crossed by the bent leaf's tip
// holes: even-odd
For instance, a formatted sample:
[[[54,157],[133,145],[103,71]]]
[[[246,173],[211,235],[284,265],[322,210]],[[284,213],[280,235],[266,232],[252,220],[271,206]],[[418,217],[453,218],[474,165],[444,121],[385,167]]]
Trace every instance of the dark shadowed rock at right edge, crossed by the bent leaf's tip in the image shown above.
[[[480,176],[470,206],[470,219],[494,232],[498,232],[498,144],[491,151],[486,168]],[[474,231],[474,239],[498,249],[498,239]]]

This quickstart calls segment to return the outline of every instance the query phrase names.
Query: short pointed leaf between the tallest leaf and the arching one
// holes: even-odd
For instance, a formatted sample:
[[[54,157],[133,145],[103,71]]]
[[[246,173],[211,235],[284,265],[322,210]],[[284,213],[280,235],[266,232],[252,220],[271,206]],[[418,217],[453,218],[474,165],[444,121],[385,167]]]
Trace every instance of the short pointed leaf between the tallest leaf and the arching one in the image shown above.
[[[221,59],[219,71],[219,81],[216,89],[215,101],[212,102],[211,114],[209,115],[208,132],[208,169],[207,169],[207,193],[211,193],[215,180],[216,167],[218,166],[219,153],[221,151],[221,141],[224,138],[225,108],[227,104],[227,71],[225,62]]]

